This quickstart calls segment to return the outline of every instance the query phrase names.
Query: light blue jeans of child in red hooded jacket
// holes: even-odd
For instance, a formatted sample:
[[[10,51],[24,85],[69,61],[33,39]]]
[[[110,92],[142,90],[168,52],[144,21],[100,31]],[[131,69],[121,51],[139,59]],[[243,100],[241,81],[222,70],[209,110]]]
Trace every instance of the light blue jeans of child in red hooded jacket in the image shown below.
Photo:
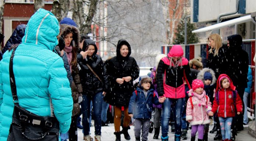
[[[233,117],[228,117],[228,118],[219,117],[222,140],[225,140],[226,138],[230,140],[231,138],[232,119]]]

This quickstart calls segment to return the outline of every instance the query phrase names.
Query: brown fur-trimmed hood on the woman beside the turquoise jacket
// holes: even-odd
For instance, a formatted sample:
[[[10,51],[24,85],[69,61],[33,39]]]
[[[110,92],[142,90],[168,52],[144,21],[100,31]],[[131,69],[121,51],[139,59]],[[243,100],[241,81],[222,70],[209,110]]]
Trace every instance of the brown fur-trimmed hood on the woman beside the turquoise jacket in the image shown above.
[[[65,38],[65,35],[67,35],[68,33],[71,33],[71,32],[73,34],[73,40],[75,41],[75,47],[78,49],[79,41],[80,41],[80,33],[79,33],[79,30],[77,29],[77,27],[70,26],[70,25],[66,25],[66,26],[61,25],[61,36],[63,37],[63,39]]]

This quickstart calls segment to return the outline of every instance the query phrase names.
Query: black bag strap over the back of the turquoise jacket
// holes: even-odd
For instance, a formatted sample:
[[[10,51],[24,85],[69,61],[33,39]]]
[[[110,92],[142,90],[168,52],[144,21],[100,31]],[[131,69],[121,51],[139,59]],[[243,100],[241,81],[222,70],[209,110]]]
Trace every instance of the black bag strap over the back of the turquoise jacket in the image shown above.
[[[13,52],[11,53],[10,63],[9,63],[9,75],[10,75],[11,93],[13,94],[13,103],[19,104],[18,96],[17,96],[17,88],[16,88],[16,83],[15,83],[15,77],[14,77],[14,73],[13,73],[13,57],[14,57],[16,49],[17,49],[17,47],[14,47]]]

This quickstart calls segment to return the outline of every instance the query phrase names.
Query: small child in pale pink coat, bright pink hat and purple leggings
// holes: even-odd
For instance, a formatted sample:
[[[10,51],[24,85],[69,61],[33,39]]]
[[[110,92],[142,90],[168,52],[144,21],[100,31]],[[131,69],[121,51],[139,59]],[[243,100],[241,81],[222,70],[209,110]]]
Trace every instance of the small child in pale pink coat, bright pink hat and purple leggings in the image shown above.
[[[195,141],[197,131],[198,141],[203,141],[204,125],[210,123],[207,113],[211,111],[211,102],[203,87],[202,80],[195,79],[192,82],[192,89],[188,91],[191,97],[186,106],[186,121],[192,126],[191,141]]]

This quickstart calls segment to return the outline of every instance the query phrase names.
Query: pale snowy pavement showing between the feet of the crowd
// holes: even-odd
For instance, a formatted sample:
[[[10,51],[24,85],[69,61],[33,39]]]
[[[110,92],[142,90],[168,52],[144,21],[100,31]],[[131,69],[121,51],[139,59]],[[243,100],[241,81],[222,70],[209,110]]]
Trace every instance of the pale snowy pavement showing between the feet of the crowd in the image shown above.
[[[92,121],[93,124],[93,121]],[[134,136],[134,126],[130,126],[131,129],[128,130],[128,133],[131,136],[131,140],[130,141],[135,141],[135,136]],[[211,130],[213,128],[213,125],[211,125],[209,127],[209,130]],[[120,128],[122,130],[122,127]],[[91,136],[93,137],[94,140],[94,127],[90,127],[90,131],[91,131]],[[101,140],[102,141],[115,141],[115,135],[114,133],[114,123],[109,124],[109,126],[104,126],[102,127],[102,137]],[[216,133],[215,133],[216,134]],[[208,134],[208,141],[213,141],[213,137],[215,136],[215,134]],[[161,131],[160,131],[160,135],[161,135]],[[161,141],[161,137],[159,135],[159,139],[153,139],[154,136],[154,131],[152,133],[149,133],[148,136],[148,141]],[[171,127],[169,126],[169,141],[174,141],[174,133],[171,133]],[[198,138],[198,133],[196,134],[196,141]],[[184,141],[190,141],[191,139],[191,130],[188,130],[188,138],[187,140]],[[78,141],[83,141],[83,133],[82,130],[78,130]],[[121,135],[121,141],[126,141],[124,138],[124,135]],[[182,141],[182,140],[181,140]],[[250,136],[248,134],[248,126],[244,128],[243,131],[239,131],[237,136],[236,136],[236,141],[256,141],[256,138],[253,138],[252,136]]]

